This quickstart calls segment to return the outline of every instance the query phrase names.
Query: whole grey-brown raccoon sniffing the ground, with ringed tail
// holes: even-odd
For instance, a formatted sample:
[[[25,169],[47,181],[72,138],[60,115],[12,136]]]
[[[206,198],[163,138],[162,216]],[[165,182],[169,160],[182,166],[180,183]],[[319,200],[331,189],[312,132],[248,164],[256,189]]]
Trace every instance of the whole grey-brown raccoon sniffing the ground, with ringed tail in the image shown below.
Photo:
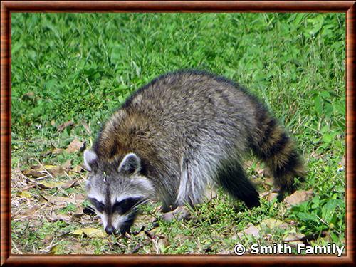
[[[305,174],[293,140],[246,89],[202,71],[168,73],[127,98],[85,150],[88,199],[108,234],[130,232],[149,199],[162,212],[199,204],[208,184],[251,209],[260,204],[242,167],[251,152],[280,199]]]

